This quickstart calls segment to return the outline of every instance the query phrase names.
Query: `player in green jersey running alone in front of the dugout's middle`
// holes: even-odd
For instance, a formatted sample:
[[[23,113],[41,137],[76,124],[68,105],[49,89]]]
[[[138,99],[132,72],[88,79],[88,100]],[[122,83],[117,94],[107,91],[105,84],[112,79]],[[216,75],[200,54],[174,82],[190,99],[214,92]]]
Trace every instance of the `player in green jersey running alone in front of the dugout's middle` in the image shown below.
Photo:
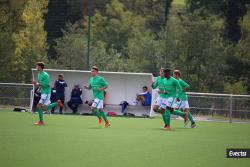
[[[110,126],[107,115],[103,110],[104,90],[108,87],[108,83],[103,77],[98,75],[98,67],[93,66],[91,69],[92,77],[89,80],[89,86],[84,86],[85,89],[92,89],[94,102],[91,105],[91,110],[99,119],[99,124],[102,124],[102,118],[105,121],[105,128]]]

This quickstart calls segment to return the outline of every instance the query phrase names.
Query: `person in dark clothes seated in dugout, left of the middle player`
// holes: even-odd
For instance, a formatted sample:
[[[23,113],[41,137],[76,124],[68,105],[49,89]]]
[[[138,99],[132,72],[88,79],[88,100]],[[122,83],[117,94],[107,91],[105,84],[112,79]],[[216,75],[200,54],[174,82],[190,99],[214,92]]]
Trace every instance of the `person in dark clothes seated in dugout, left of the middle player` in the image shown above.
[[[73,111],[73,114],[77,113],[80,104],[82,104],[82,89],[79,88],[79,85],[75,85],[71,91],[71,97],[68,102],[68,106]]]

